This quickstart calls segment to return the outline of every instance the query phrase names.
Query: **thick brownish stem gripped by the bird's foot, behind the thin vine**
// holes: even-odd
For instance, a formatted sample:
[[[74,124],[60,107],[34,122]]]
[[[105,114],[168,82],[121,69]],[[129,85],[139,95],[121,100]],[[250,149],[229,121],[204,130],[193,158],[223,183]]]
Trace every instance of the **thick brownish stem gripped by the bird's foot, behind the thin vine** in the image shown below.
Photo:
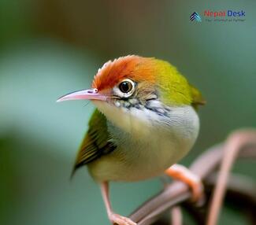
[[[256,145],[243,145],[240,146],[240,149],[239,157],[256,158]],[[224,146],[213,146],[206,153],[202,154],[202,156],[198,157],[190,169],[202,179],[206,179],[221,164],[223,157]],[[181,202],[187,201],[190,197],[191,192],[186,184],[173,182],[160,194],[152,197],[149,201],[137,208],[130,218],[137,222],[138,225],[154,223],[168,208],[179,205]]]

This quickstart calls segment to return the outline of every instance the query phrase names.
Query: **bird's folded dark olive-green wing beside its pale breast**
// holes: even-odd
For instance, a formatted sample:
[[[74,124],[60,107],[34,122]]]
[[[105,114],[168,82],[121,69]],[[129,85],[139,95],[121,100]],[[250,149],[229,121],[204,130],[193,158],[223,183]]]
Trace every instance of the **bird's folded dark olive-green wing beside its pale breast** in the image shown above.
[[[77,154],[73,173],[84,164],[113,151],[116,146],[109,139],[106,117],[98,109],[95,109],[89,121],[89,129]]]

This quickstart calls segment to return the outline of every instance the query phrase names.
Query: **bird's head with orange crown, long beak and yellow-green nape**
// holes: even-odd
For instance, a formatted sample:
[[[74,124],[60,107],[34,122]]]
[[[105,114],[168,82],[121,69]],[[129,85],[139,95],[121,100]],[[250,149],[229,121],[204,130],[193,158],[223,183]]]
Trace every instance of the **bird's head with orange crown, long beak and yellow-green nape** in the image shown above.
[[[93,101],[106,117],[150,107],[152,101],[152,107],[202,103],[199,91],[173,65],[135,55],[106,62],[98,69],[91,89],[67,94],[58,101],[78,99]]]

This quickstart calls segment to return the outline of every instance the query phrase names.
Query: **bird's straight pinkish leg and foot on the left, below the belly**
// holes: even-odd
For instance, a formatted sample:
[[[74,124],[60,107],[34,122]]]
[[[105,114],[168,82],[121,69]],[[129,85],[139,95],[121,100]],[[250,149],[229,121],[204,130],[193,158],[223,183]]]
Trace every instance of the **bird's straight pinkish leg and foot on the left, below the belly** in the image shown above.
[[[109,183],[104,182],[101,183],[101,190],[102,190],[102,197],[106,206],[106,212],[109,216],[109,220],[113,224],[118,225],[136,225],[137,223],[134,223],[131,219],[120,216],[112,211],[110,201],[109,201]]]

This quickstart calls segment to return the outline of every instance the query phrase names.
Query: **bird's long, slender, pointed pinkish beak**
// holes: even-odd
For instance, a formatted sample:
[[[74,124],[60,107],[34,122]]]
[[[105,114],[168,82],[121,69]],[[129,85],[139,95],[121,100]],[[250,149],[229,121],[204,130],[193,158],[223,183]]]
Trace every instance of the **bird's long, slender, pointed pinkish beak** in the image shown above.
[[[88,90],[78,90],[70,94],[66,94],[61,98],[58,98],[57,102],[68,101],[68,100],[80,100],[80,99],[106,101],[107,96],[105,94],[99,94],[98,90],[94,88],[94,89],[88,89]]]

